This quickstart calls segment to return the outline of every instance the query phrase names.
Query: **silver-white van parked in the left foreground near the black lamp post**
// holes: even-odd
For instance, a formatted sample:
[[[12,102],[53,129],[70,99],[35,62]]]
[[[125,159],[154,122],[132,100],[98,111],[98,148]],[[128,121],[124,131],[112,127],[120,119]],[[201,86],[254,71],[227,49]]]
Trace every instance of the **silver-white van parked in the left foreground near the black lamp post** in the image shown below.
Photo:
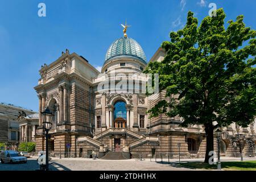
[[[27,158],[20,156],[17,151],[6,150],[0,154],[1,163],[27,163]]]

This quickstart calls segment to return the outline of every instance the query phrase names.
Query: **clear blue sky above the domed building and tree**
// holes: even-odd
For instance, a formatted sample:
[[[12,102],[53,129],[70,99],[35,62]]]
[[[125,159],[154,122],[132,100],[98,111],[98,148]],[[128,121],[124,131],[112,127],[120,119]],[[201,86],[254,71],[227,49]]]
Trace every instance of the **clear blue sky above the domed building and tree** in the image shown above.
[[[40,2],[46,3],[46,17],[38,16]],[[127,35],[141,44],[148,61],[170,31],[185,24],[189,10],[201,21],[210,2],[224,8],[226,22],[243,14],[246,26],[256,29],[254,0],[0,0],[0,102],[37,111],[33,88],[41,65],[68,48],[100,68],[110,44],[123,36],[125,19],[132,26]]]

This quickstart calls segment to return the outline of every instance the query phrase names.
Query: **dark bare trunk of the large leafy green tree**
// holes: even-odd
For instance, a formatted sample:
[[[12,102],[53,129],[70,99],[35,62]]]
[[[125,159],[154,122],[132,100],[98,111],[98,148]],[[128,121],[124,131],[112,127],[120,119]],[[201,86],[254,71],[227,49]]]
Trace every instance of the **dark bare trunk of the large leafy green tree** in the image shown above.
[[[214,127],[212,125],[212,123],[210,124],[205,124],[205,135],[207,137],[207,149],[205,152],[205,158],[204,158],[204,162],[205,163],[209,163],[209,152],[210,151],[214,151],[214,138],[213,138],[213,130]]]

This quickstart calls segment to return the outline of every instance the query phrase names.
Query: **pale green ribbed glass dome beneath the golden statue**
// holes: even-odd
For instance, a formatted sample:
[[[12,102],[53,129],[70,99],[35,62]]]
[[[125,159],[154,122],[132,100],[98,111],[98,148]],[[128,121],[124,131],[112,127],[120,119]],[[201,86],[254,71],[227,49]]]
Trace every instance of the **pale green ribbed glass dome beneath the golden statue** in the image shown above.
[[[106,64],[110,59],[117,56],[131,56],[135,57],[138,60],[142,61],[142,63],[147,64],[146,56],[136,40],[123,37],[115,40],[108,51],[106,52],[105,63]]]

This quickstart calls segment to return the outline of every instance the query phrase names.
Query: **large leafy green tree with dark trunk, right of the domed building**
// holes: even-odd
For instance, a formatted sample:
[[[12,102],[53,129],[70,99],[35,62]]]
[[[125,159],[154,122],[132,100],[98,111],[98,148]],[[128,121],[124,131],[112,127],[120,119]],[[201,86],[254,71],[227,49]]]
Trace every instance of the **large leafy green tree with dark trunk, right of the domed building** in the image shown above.
[[[160,101],[148,111],[184,118],[182,126],[203,125],[207,138],[205,162],[213,151],[213,132],[236,122],[247,127],[256,115],[255,30],[243,23],[243,15],[224,27],[224,10],[207,16],[198,26],[191,11],[182,30],[163,42],[167,55],[148,64],[144,73],[159,73],[159,90],[177,99]],[[246,42],[246,43],[245,43]],[[167,109],[169,108],[169,109]],[[214,125],[214,121],[217,125]]]

